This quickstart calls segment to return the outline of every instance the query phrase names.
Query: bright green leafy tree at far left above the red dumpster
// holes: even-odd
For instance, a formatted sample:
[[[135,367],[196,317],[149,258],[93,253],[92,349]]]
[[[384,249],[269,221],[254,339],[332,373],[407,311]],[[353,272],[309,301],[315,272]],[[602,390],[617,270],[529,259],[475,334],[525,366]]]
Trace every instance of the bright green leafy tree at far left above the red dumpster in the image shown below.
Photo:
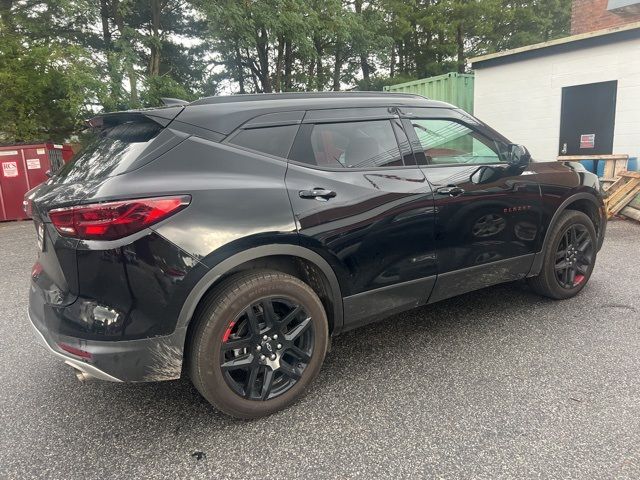
[[[42,22],[49,20],[50,12],[38,13],[34,3],[30,11],[0,12],[3,143],[68,138],[102,90],[87,51],[45,28]],[[18,2],[17,7],[25,4]],[[57,11],[64,11],[64,6],[51,2]]]

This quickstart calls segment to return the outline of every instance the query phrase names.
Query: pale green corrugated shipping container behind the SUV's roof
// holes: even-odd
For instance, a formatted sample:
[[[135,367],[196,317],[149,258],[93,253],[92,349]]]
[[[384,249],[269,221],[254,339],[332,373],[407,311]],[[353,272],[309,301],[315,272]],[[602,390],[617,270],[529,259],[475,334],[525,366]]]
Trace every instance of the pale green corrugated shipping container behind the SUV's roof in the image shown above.
[[[432,100],[441,100],[473,113],[473,75],[445,73],[437,77],[384,87],[385,92],[417,93]]]

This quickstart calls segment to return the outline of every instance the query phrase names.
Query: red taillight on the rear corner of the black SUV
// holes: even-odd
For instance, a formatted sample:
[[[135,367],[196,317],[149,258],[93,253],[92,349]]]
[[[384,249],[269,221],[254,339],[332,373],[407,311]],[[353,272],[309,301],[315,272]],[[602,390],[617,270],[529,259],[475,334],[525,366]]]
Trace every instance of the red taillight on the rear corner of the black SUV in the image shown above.
[[[116,240],[164,220],[191,202],[189,195],[138,198],[49,211],[60,235],[84,240]]]

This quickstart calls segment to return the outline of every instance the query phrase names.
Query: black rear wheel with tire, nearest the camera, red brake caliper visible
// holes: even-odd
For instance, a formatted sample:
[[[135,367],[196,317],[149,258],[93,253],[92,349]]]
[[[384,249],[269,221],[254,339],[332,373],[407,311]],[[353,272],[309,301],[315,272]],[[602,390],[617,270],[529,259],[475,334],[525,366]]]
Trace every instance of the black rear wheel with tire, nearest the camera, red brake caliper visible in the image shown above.
[[[222,412],[256,418],[285,408],[318,375],[328,341],[315,292],[296,277],[262,271],[224,282],[200,309],[191,378]]]

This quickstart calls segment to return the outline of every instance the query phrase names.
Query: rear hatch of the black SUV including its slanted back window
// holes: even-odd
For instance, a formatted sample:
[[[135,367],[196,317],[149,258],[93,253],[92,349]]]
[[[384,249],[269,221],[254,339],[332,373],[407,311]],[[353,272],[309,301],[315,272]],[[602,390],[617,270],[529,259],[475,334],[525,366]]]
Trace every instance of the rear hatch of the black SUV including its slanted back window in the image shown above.
[[[104,182],[139,168],[180,143],[185,136],[165,127],[181,110],[111,113],[90,120],[91,138],[86,148],[47,182],[27,192],[25,205],[38,239],[32,279],[46,303],[69,305],[78,295],[79,240],[61,236],[48,212],[83,203]]]

